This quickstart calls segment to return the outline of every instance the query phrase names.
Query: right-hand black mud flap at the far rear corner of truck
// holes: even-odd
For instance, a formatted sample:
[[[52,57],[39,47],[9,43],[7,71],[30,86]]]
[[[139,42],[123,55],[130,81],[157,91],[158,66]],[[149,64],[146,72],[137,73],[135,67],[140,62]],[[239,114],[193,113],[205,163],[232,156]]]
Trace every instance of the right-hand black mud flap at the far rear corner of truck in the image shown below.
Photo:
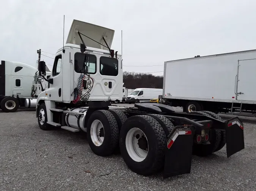
[[[226,120],[225,123],[227,156],[230,157],[245,148],[243,123],[238,117]]]

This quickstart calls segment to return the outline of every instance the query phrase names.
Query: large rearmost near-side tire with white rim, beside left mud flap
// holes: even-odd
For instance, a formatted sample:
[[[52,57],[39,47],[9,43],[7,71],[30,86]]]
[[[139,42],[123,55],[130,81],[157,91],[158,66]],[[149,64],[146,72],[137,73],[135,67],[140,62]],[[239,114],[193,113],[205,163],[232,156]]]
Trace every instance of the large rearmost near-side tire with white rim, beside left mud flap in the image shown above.
[[[144,133],[146,139],[142,134],[138,138],[136,131]],[[133,132],[136,136],[133,136]],[[141,138],[144,138],[151,147],[143,150],[138,148],[138,143],[133,144],[134,140],[138,139],[137,142],[139,142]],[[151,116],[129,117],[121,128],[119,135],[121,155],[126,165],[137,174],[148,176],[163,168],[165,145],[165,131],[160,123]],[[138,150],[135,151],[135,147],[140,150],[140,153],[143,153],[143,157],[136,154]]]

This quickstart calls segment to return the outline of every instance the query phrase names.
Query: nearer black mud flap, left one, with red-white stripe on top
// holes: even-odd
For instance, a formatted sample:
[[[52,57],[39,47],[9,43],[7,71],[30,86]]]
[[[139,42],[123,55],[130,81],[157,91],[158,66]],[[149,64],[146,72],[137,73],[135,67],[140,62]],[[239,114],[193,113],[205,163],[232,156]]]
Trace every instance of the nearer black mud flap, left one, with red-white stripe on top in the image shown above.
[[[194,130],[176,126],[166,143],[163,178],[190,173]]]

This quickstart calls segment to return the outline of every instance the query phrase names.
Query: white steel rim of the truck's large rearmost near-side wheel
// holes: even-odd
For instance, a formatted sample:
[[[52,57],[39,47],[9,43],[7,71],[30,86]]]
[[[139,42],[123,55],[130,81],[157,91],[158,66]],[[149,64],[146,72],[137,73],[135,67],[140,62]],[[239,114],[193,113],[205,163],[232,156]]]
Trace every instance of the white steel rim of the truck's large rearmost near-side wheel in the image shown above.
[[[136,162],[142,162],[148,156],[148,149],[144,150],[139,147],[138,145],[139,139],[137,135],[140,135],[140,137],[144,136],[148,144],[148,139],[144,134],[144,132],[141,131],[139,128],[132,128],[126,134],[126,140],[125,140],[126,150],[129,156],[132,158],[132,160]]]

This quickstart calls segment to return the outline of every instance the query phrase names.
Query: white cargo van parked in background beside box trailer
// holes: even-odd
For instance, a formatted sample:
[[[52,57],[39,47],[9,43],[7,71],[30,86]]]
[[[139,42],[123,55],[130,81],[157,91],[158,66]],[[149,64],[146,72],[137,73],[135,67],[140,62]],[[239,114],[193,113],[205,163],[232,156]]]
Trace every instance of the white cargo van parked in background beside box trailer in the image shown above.
[[[149,102],[151,99],[158,98],[163,94],[163,89],[137,88],[132,94],[127,96],[128,103]]]

